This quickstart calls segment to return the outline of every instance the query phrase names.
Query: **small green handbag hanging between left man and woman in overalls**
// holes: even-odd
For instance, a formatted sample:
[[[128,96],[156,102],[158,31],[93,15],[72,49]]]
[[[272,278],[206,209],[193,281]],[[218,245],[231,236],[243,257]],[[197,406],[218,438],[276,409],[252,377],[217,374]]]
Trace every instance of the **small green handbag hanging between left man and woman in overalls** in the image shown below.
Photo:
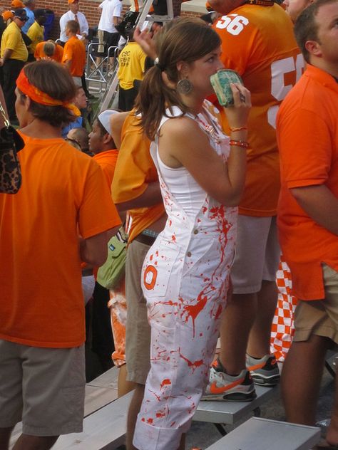
[[[126,271],[127,241],[123,226],[108,242],[108,258],[98,269],[96,281],[106,289],[113,289],[118,285]]]

